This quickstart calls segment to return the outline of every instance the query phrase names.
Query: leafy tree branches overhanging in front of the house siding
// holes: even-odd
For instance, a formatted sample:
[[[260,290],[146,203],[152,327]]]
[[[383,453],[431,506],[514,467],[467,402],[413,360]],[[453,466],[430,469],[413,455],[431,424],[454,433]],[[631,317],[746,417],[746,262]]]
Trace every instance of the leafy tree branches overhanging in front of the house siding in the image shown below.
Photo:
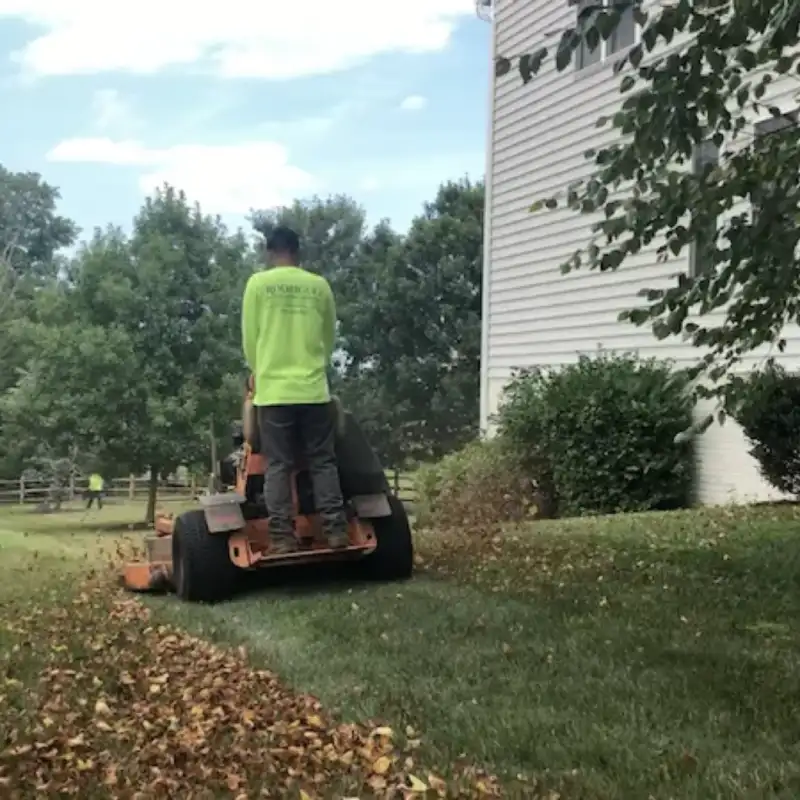
[[[556,48],[558,69],[587,40],[611,35],[622,12],[594,9],[584,33],[565,31]],[[592,241],[563,269],[616,270],[657,240],[667,260],[691,242],[704,244],[709,224],[720,220],[716,241],[705,243],[708,266],[696,277],[677,275],[667,289],[645,289],[642,308],[622,315],[649,324],[658,338],[684,336],[698,348],[697,392],[730,401],[742,389],[732,370],[762,345],[777,345],[787,323],[800,316],[800,137],[796,121],[770,105],[771,85],[798,74],[800,5],[772,0],[677,0],[650,18],[634,4],[644,26],[641,43],[618,65],[621,109],[598,125],[620,139],[588,152],[591,178],[546,198],[534,210],[566,204],[589,214]],[[689,42],[659,55],[680,33]],[[648,54],[652,54],[649,56]],[[522,55],[523,81],[535,78],[547,48]],[[512,59],[497,61],[497,74]],[[747,133],[765,113],[770,135]],[[685,168],[705,141],[722,151],[719,166],[693,174]],[[707,426],[711,418],[701,424]]]

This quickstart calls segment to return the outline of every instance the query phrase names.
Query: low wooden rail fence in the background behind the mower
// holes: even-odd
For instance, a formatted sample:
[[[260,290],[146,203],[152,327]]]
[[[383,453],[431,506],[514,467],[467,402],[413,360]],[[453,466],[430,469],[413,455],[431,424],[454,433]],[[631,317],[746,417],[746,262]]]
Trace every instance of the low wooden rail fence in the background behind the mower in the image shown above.
[[[397,470],[387,470],[389,485],[392,491],[404,502],[413,503],[413,479],[407,473]],[[76,478],[69,486],[64,488],[63,499],[66,501],[80,499],[86,491],[87,479]],[[191,500],[205,488],[196,480],[188,482],[159,481],[158,500]],[[150,491],[150,479],[147,477],[114,478],[105,482],[104,495],[107,499],[117,502],[131,500],[144,500]],[[0,480],[0,505],[16,505],[43,503],[47,500],[50,485],[46,481]]]

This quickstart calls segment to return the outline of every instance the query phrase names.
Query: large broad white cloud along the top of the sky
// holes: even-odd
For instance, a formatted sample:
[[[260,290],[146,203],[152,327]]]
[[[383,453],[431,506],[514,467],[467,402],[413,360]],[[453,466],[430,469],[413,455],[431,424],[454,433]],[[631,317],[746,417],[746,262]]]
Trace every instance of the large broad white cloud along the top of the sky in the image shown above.
[[[444,48],[470,0],[0,0],[42,33],[14,54],[30,75],[154,74],[199,65],[224,77],[316,75],[388,52]]]

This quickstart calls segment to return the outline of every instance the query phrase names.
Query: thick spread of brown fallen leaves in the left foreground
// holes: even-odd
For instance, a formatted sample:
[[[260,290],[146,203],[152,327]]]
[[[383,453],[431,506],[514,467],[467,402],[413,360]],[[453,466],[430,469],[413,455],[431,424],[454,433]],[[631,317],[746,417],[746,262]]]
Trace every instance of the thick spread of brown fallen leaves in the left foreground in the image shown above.
[[[4,797],[499,796],[475,769],[448,781],[423,770],[416,731],[337,722],[243,649],[155,625],[106,580],[5,633],[16,643],[0,660]],[[13,677],[23,650],[42,664],[33,695]]]

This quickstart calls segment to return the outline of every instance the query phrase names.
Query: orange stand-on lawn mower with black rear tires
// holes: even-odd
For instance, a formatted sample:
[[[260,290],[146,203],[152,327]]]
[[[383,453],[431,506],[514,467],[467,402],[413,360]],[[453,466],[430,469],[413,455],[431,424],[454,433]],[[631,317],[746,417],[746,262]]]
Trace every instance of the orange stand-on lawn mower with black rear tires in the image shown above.
[[[220,602],[236,593],[245,571],[325,561],[356,561],[356,571],[364,578],[411,577],[414,554],[405,507],[389,488],[375,451],[352,415],[335,400],[331,413],[336,415],[339,477],[349,520],[346,548],[328,547],[314,508],[310,475],[301,466],[292,479],[298,548],[272,552],[264,501],[266,459],[250,380],[243,420],[233,436],[236,449],[220,463],[224,490],[200,497],[198,509],[157,515],[155,532],[145,539],[146,559],[125,566],[126,588],[172,590],[185,601]]]

